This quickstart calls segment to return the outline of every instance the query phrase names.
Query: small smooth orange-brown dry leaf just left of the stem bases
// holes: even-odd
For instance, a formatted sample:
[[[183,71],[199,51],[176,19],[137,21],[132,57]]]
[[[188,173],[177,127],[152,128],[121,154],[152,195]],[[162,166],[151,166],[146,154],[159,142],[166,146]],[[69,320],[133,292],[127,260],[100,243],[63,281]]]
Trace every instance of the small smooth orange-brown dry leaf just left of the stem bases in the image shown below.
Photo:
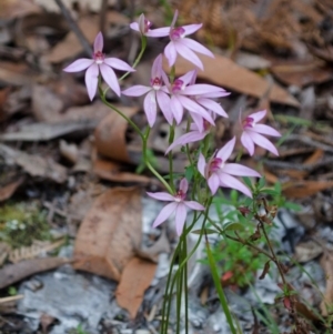
[[[139,257],[133,257],[123,269],[115,297],[119,306],[129,311],[131,318],[135,318],[155,271],[155,263]]]

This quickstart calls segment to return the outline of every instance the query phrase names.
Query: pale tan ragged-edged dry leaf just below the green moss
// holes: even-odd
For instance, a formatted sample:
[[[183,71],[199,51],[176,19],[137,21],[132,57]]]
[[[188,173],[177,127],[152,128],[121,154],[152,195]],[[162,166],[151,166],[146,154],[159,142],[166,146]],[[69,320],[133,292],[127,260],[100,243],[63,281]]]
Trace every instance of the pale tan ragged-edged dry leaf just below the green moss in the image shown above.
[[[9,260],[12,263],[18,263],[23,260],[33,259],[41,253],[51,252],[64,243],[64,240],[58,240],[56,242],[38,242],[36,241],[31,246],[20,247],[9,252]]]

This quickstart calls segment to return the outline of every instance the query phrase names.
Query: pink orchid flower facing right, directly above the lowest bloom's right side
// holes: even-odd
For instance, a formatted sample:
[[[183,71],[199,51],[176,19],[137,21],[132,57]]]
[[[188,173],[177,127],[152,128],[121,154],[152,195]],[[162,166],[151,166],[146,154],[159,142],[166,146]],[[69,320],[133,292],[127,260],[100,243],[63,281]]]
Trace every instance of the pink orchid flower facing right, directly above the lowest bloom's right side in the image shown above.
[[[261,175],[239,163],[226,163],[235,144],[235,136],[229,141],[221,150],[214,154],[209,163],[200,153],[198,161],[198,170],[203,178],[208,180],[212,194],[215,194],[219,186],[235,189],[249,198],[252,198],[250,190],[234,176],[255,176]],[[233,176],[234,175],[234,176]]]

